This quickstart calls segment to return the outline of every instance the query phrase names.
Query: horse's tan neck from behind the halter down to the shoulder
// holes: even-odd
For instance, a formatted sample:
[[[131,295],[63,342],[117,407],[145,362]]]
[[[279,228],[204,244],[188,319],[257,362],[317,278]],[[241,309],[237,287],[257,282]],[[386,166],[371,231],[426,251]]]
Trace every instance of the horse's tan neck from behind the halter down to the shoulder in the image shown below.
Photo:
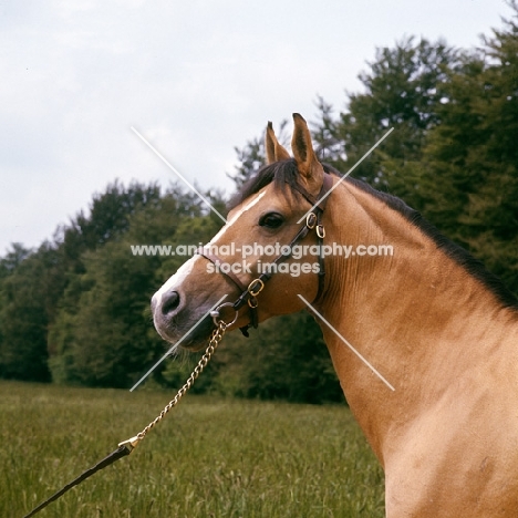
[[[518,318],[397,210],[351,184],[336,189],[338,197],[328,204],[328,244],[393,247],[390,257],[327,258],[328,287],[319,308],[395,387],[392,392],[321,322],[351,410],[382,459],[383,437],[397,416],[411,419],[448,390],[462,369],[487,362],[506,336],[518,349]]]

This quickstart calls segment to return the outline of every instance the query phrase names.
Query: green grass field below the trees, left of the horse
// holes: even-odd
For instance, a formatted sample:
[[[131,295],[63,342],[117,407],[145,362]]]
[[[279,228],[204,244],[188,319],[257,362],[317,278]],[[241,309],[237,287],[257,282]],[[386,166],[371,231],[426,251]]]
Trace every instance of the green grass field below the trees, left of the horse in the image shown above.
[[[0,516],[24,516],[174,393],[0,382]],[[188,394],[131,456],[39,517],[383,517],[383,474],[343,405]]]

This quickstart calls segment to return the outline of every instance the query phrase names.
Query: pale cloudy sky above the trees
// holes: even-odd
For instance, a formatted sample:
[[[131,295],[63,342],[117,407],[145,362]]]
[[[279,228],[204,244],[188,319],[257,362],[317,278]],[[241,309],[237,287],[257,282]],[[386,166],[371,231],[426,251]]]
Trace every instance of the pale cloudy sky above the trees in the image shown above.
[[[235,147],[293,112],[338,114],[375,49],[470,49],[503,0],[8,0],[0,3],[0,256],[52,239],[120,179],[231,193]],[[132,130],[133,128],[133,130]]]

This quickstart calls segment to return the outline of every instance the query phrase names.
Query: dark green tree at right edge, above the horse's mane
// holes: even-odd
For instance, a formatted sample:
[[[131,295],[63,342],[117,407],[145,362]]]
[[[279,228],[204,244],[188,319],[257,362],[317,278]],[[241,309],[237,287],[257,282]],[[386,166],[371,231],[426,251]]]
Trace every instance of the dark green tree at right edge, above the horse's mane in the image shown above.
[[[423,210],[518,292],[518,25],[506,24],[449,79]]]

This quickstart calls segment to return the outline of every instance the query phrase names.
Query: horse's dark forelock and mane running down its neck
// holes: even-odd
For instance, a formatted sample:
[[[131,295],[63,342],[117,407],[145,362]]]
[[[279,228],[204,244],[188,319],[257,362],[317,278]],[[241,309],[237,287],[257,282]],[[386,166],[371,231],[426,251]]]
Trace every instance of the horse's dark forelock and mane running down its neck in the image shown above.
[[[327,174],[332,174],[338,177],[342,176],[334,167],[328,164],[322,164],[322,166]],[[288,187],[296,197],[300,196],[299,191],[294,189],[294,185],[298,183],[298,176],[299,172],[293,158],[263,166],[232,196],[228,203],[228,208],[229,210],[232,209],[272,182],[276,189],[286,193]],[[391,209],[400,213],[411,225],[418,228],[425,236],[432,239],[439,250],[463,267],[472,277],[490,291],[504,307],[518,310],[518,298],[507,289],[504,282],[487,270],[484,263],[475,259],[467,250],[441,234],[419,211],[408,207],[396,196],[374,189],[363,180],[348,177],[344,182],[362,189],[364,193],[384,203]]]

